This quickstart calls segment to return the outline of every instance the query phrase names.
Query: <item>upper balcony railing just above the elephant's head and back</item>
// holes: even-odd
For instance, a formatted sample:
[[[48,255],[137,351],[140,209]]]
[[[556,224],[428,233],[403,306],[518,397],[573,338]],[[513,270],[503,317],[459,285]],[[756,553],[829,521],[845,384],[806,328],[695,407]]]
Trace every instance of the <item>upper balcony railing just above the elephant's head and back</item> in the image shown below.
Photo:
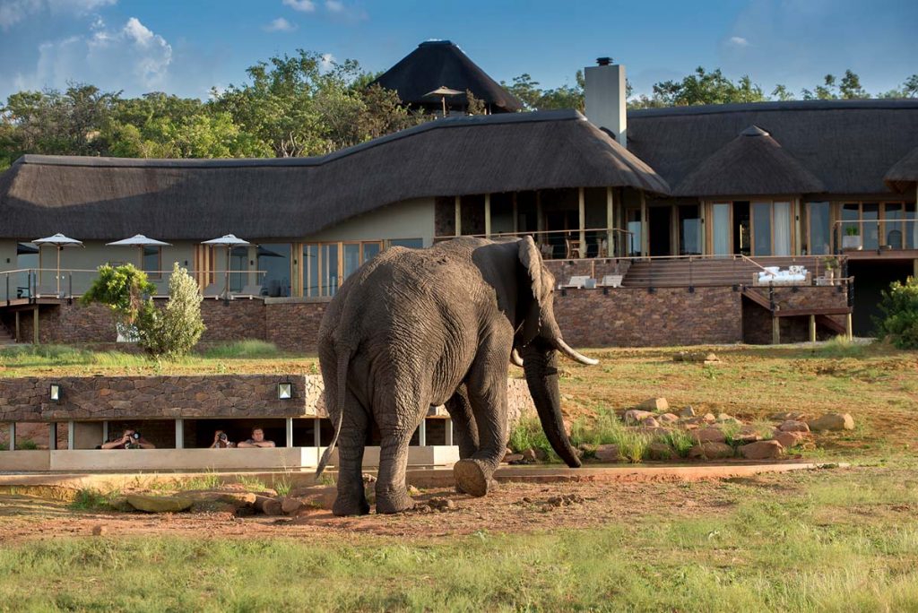
[[[580,234],[584,235],[581,244]],[[637,244],[633,232],[622,228],[584,228],[565,230],[538,230],[518,232],[492,232],[487,234],[464,234],[464,237],[478,239],[521,238],[531,236],[542,251],[545,260],[579,260],[584,258],[628,258],[640,257],[641,245]],[[458,238],[453,235],[438,236],[433,242]],[[610,249],[611,247],[611,249]]]

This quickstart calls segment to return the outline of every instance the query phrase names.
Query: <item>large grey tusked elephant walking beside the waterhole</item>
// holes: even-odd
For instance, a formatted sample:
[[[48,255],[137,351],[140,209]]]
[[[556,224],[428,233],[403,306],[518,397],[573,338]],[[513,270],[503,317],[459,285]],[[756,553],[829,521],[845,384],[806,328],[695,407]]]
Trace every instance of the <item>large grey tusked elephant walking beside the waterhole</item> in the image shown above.
[[[393,247],[349,276],[319,325],[319,365],[338,446],[337,516],[363,515],[364,443],[379,429],[376,512],[413,507],[405,484],[409,441],[431,406],[445,405],[459,446],[456,488],[487,495],[508,440],[509,362],[523,366],[543,429],[568,466],[554,320],[554,275],[531,237],[457,238],[423,250]]]

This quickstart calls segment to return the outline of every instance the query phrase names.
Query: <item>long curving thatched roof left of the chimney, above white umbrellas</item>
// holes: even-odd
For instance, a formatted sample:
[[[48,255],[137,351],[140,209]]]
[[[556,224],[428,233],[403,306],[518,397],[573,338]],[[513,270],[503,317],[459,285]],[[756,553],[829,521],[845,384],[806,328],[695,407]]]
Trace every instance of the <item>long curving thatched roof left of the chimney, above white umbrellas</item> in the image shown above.
[[[319,158],[27,155],[0,175],[0,236],[297,239],[409,198],[601,186],[669,193],[576,111],[447,118]]]

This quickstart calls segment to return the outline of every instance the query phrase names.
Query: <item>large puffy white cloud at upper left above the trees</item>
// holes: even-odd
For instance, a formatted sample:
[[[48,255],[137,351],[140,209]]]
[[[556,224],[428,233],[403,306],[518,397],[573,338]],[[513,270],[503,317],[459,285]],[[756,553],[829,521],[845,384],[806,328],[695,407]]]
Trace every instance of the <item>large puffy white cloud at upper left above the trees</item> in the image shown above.
[[[14,84],[62,88],[75,81],[103,90],[149,92],[165,85],[172,56],[172,46],[137,17],[120,29],[108,29],[97,19],[86,35],[39,45],[35,72],[17,74]]]

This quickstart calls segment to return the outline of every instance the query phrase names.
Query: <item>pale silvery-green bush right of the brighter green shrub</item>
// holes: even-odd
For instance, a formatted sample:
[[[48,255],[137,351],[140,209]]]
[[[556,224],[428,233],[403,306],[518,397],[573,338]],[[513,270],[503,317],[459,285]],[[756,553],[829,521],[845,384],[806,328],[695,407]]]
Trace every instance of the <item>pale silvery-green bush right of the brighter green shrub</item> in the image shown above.
[[[152,356],[175,360],[194,348],[204,333],[197,283],[178,262],[169,278],[169,302],[144,309],[138,319],[139,344]]]

